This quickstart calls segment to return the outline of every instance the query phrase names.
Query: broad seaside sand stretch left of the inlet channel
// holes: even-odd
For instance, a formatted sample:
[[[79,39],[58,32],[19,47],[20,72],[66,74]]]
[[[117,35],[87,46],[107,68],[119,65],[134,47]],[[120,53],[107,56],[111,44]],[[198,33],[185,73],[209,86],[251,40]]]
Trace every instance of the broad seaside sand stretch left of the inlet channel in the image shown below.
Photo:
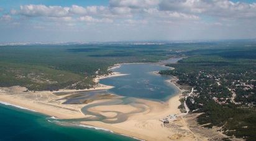
[[[48,91],[36,93],[22,93],[22,91],[19,91],[19,94],[10,94],[9,92],[1,91],[0,93],[0,101],[25,107],[42,114],[47,114],[48,116],[54,116],[60,119],[77,119],[85,116],[80,112],[82,105],[63,105],[60,102],[54,101],[54,99],[58,98],[60,97]]]

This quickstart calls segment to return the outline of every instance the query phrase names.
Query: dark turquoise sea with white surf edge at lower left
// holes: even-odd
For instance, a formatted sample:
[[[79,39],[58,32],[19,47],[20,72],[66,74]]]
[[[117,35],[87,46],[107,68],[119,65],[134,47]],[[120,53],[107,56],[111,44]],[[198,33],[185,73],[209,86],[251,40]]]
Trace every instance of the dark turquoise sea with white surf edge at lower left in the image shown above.
[[[36,112],[0,104],[0,140],[135,140],[109,131],[58,125]]]

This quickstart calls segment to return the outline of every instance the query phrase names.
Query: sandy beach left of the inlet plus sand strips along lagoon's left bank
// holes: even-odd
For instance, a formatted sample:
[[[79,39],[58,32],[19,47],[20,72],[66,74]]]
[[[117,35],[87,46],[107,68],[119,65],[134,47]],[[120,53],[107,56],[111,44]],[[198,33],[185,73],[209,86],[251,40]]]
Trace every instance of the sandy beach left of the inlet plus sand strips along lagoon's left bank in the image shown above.
[[[94,81],[96,83],[99,80],[114,77],[123,76],[126,74],[111,73],[109,75],[97,76]],[[95,91],[101,89],[111,89],[113,86],[107,86],[104,84],[96,84],[94,88],[90,89],[60,89],[59,91],[26,91],[26,88],[21,86],[12,86],[9,88],[0,88],[0,101],[7,102],[16,106],[25,107],[32,111],[37,111],[48,116],[58,117],[59,119],[78,119],[83,118],[85,115],[81,112],[81,108],[85,104],[62,104],[63,101],[56,101],[56,99],[63,98],[71,95],[72,93],[78,93],[83,91]],[[70,93],[64,96],[57,96],[53,93]],[[95,102],[95,101],[94,101]],[[91,103],[94,103],[91,102]]]

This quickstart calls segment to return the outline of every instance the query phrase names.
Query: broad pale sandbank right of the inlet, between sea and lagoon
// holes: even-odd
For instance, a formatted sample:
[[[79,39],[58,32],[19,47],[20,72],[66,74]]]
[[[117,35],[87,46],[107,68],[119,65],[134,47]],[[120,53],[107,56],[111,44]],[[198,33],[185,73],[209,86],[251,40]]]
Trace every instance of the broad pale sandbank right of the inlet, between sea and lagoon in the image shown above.
[[[169,136],[176,134],[178,130],[170,130],[164,127],[159,119],[162,119],[169,114],[180,114],[180,110],[178,109],[178,106],[180,105],[179,99],[180,93],[175,94],[175,96],[172,96],[166,102],[137,99],[147,106],[147,110],[145,112],[130,115],[127,121],[117,124],[106,124],[95,121],[81,122],[81,124],[109,129],[117,134],[125,134],[142,140],[170,140]],[[104,107],[108,108],[109,106]],[[112,109],[119,107],[119,105],[112,106]],[[174,122],[182,121],[179,120]],[[190,137],[183,137],[181,140],[187,139],[190,139]]]

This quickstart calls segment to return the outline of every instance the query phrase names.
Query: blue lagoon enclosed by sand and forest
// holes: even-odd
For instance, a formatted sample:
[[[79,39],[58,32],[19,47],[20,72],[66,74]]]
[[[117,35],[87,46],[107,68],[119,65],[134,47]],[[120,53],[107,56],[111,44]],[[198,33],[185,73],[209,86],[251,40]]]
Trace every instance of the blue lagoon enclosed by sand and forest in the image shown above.
[[[170,68],[149,63],[123,64],[112,71],[129,75],[106,78],[100,83],[115,86],[109,92],[117,95],[165,101],[178,93],[178,89],[167,83],[168,76],[160,76],[153,71],[167,69]]]

